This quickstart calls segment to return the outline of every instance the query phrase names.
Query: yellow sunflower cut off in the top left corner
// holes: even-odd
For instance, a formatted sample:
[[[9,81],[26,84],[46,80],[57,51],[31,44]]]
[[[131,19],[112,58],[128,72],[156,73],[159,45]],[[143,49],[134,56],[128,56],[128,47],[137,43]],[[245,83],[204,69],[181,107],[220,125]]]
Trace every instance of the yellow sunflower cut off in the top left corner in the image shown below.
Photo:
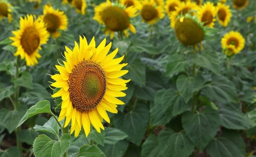
[[[13,20],[11,16],[11,8],[12,5],[8,3],[7,0],[0,0],[0,21],[3,17],[7,17],[9,23]]]

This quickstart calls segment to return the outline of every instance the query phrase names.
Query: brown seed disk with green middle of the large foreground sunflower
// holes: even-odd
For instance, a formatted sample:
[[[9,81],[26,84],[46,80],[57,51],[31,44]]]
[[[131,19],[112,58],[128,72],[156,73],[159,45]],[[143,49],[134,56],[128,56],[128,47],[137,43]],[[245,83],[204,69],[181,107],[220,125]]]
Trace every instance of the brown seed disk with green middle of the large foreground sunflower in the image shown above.
[[[97,107],[106,92],[106,73],[96,62],[84,60],[75,67],[68,84],[73,107],[88,112]]]

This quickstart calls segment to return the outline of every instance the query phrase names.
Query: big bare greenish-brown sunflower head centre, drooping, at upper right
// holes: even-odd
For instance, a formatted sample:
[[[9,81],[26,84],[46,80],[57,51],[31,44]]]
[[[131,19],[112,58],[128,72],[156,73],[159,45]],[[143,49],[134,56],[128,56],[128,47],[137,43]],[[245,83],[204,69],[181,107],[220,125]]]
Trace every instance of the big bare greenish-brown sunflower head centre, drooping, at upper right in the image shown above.
[[[174,29],[176,37],[184,45],[196,45],[204,37],[203,29],[190,18],[178,19]]]

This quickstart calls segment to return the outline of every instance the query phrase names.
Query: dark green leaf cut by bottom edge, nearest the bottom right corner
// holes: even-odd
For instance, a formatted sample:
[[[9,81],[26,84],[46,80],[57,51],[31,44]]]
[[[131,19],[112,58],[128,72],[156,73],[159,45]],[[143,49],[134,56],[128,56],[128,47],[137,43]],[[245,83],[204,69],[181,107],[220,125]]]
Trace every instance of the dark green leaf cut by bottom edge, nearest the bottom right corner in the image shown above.
[[[220,137],[214,138],[206,147],[211,157],[245,157],[245,143],[240,133],[223,130]]]

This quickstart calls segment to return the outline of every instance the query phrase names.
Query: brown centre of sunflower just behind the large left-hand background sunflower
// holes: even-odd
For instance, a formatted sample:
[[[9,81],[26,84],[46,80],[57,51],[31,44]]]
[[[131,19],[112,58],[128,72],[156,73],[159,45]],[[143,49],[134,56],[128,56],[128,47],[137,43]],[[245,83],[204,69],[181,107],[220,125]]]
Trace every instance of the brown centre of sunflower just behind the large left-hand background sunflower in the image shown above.
[[[60,27],[60,19],[53,14],[44,15],[44,22],[47,24],[47,31],[55,32]]]

